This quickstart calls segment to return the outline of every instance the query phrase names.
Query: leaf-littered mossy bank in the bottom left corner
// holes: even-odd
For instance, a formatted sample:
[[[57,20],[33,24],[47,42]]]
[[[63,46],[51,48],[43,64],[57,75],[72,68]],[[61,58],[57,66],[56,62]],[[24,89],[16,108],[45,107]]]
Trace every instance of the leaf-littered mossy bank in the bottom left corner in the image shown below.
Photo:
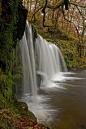
[[[6,103],[0,94],[0,129],[50,129],[37,122],[37,118],[28,110],[27,104],[14,99]]]

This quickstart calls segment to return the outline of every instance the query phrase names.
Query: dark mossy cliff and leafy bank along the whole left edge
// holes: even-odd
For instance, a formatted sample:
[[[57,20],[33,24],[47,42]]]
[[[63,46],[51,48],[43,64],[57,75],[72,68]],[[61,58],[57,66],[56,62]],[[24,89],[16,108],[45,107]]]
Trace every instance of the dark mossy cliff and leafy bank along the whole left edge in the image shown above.
[[[14,49],[22,38],[27,10],[21,0],[0,1],[0,129],[48,129],[38,124],[25,103],[18,102],[14,94],[14,80],[20,80],[21,69],[14,69]],[[33,27],[34,28],[34,27]],[[34,37],[37,36],[34,30]]]

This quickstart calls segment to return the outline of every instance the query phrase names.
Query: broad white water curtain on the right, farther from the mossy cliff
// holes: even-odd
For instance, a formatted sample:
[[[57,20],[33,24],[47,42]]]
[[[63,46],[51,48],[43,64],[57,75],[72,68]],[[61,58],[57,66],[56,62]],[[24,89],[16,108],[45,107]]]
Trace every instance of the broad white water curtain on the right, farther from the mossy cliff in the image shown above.
[[[63,55],[55,44],[47,42],[39,35],[35,49],[38,64],[37,74],[43,76],[45,85],[47,82],[50,82],[49,80],[52,80],[53,76],[63,71],[67,72]]]

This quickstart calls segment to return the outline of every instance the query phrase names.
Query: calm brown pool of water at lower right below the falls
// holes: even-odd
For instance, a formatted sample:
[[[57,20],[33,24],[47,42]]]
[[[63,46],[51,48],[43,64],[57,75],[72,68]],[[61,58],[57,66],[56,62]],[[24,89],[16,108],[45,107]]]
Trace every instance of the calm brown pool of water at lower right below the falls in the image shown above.
[[[86,129],[86,70],[74,73],[65,76],[80,79],[58,82],[62,88],[39,90],[39,94],[49,98],[52,122],[48,121],[49,116],[45,123],[53,129]]]

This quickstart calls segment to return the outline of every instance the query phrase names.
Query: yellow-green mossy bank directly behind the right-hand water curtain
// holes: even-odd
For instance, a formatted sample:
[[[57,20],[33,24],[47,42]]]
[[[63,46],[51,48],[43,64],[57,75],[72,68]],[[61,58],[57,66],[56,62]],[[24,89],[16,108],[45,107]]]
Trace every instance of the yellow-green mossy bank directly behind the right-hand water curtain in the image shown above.
[[[36,23],[37,26],[37,23]],[[79,55],[78,39],[72,35],[68,35],[63,30],[58,28],[40,29],[38,26],[38,33],[43,36],[48,42],[56,44],[65,58],[67,67],[69,69],[83,69],[86,68],[86,57]]]

